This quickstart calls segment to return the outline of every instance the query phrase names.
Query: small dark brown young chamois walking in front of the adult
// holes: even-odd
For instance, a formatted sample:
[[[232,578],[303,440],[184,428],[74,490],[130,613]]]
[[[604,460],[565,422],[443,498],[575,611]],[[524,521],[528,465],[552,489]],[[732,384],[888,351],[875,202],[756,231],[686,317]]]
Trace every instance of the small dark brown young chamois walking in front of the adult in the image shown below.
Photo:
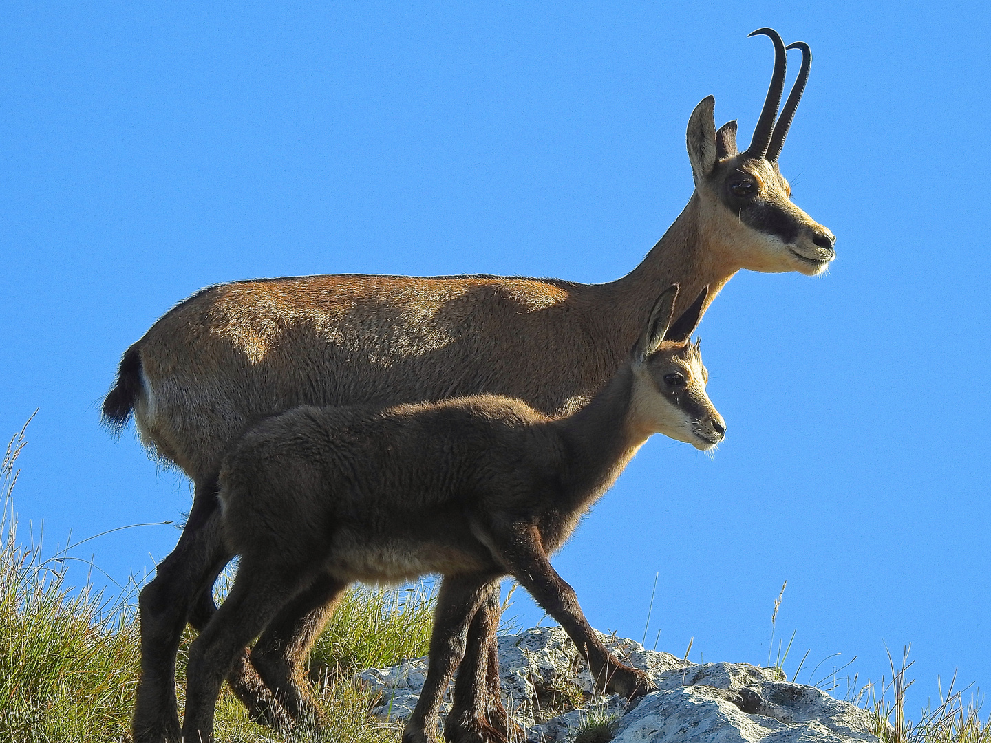
[[[220,474],[220,529],[241,561],[189,652],[185,741],[210,740],[220,686],[242,649],[320,577],[340,591],[355,581],[444,576],[407,743],[437,739],[438,703],[469,622],[505,575],[561,623],[600,688],[627,697],[653,690],[609,654],[548,556],[652,434],[701,450],[722,440],[707,372],[689,342],[706,293],[672,323],[678,286],[666,289],[627,362],[563,418],[478,395],[301,406],[249,429]],[[280,692],[294,715],[316,716],[305,692]]]

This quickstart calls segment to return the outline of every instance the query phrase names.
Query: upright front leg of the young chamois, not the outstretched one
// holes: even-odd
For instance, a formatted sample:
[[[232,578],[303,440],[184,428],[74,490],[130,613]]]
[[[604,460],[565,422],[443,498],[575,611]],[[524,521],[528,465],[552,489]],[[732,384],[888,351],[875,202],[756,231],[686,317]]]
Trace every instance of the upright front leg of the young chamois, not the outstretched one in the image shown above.
[[[498,578],[491,574],[445,576],[437,596],[427,678],[413,713],[402,731],[402,743],[435,743],[437,717],[444,691],[465,654],[468,626]]]

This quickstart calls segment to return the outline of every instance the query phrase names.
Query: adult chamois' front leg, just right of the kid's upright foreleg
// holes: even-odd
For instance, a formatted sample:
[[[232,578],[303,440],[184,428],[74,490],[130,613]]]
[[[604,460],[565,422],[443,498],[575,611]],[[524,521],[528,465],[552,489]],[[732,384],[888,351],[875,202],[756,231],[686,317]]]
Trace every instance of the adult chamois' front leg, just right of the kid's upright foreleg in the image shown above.
[[[449,743],[526,739],[525,732],[510,719],[500,698],[495,642],[500,611],[498,584],[495,584],[468,629],[465,658],[458,667],[454,684],[454,705],[444,724],[444,737]]]

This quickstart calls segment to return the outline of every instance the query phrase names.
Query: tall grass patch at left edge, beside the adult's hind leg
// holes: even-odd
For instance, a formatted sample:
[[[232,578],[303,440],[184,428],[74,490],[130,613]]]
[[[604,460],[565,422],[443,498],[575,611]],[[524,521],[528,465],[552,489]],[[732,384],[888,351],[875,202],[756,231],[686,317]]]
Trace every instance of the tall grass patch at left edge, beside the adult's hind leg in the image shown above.
[[[70,590],[64,560],[18,545],[12,496],[26,429],[0,463],[0,739],[123,740],[138,678],[134,612],[88,586]]]

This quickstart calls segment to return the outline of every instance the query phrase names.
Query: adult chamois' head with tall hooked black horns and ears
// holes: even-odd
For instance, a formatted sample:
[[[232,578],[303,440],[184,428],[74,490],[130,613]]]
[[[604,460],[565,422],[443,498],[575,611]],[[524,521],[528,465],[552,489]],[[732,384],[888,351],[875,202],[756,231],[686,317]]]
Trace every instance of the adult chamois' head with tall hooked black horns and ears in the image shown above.
[[[758,29],[750,36],[758,34],[774,43],[774,76],[750,146],[742,153],[736,150],[735,121],[716,131],[713,96],[696,106],[689,119],[688,155],[703,210],[703,229],[710,244],[726,251],[738,265],[770,273],[797,270],[815,275],[835,258],[836,240],[792,203],[791,186],[778,169],[778,156],[809,78],[812,52],[804,42],[785,47],[773,29]],[[775,124],[790,49],[802,51],[802,68]]]

